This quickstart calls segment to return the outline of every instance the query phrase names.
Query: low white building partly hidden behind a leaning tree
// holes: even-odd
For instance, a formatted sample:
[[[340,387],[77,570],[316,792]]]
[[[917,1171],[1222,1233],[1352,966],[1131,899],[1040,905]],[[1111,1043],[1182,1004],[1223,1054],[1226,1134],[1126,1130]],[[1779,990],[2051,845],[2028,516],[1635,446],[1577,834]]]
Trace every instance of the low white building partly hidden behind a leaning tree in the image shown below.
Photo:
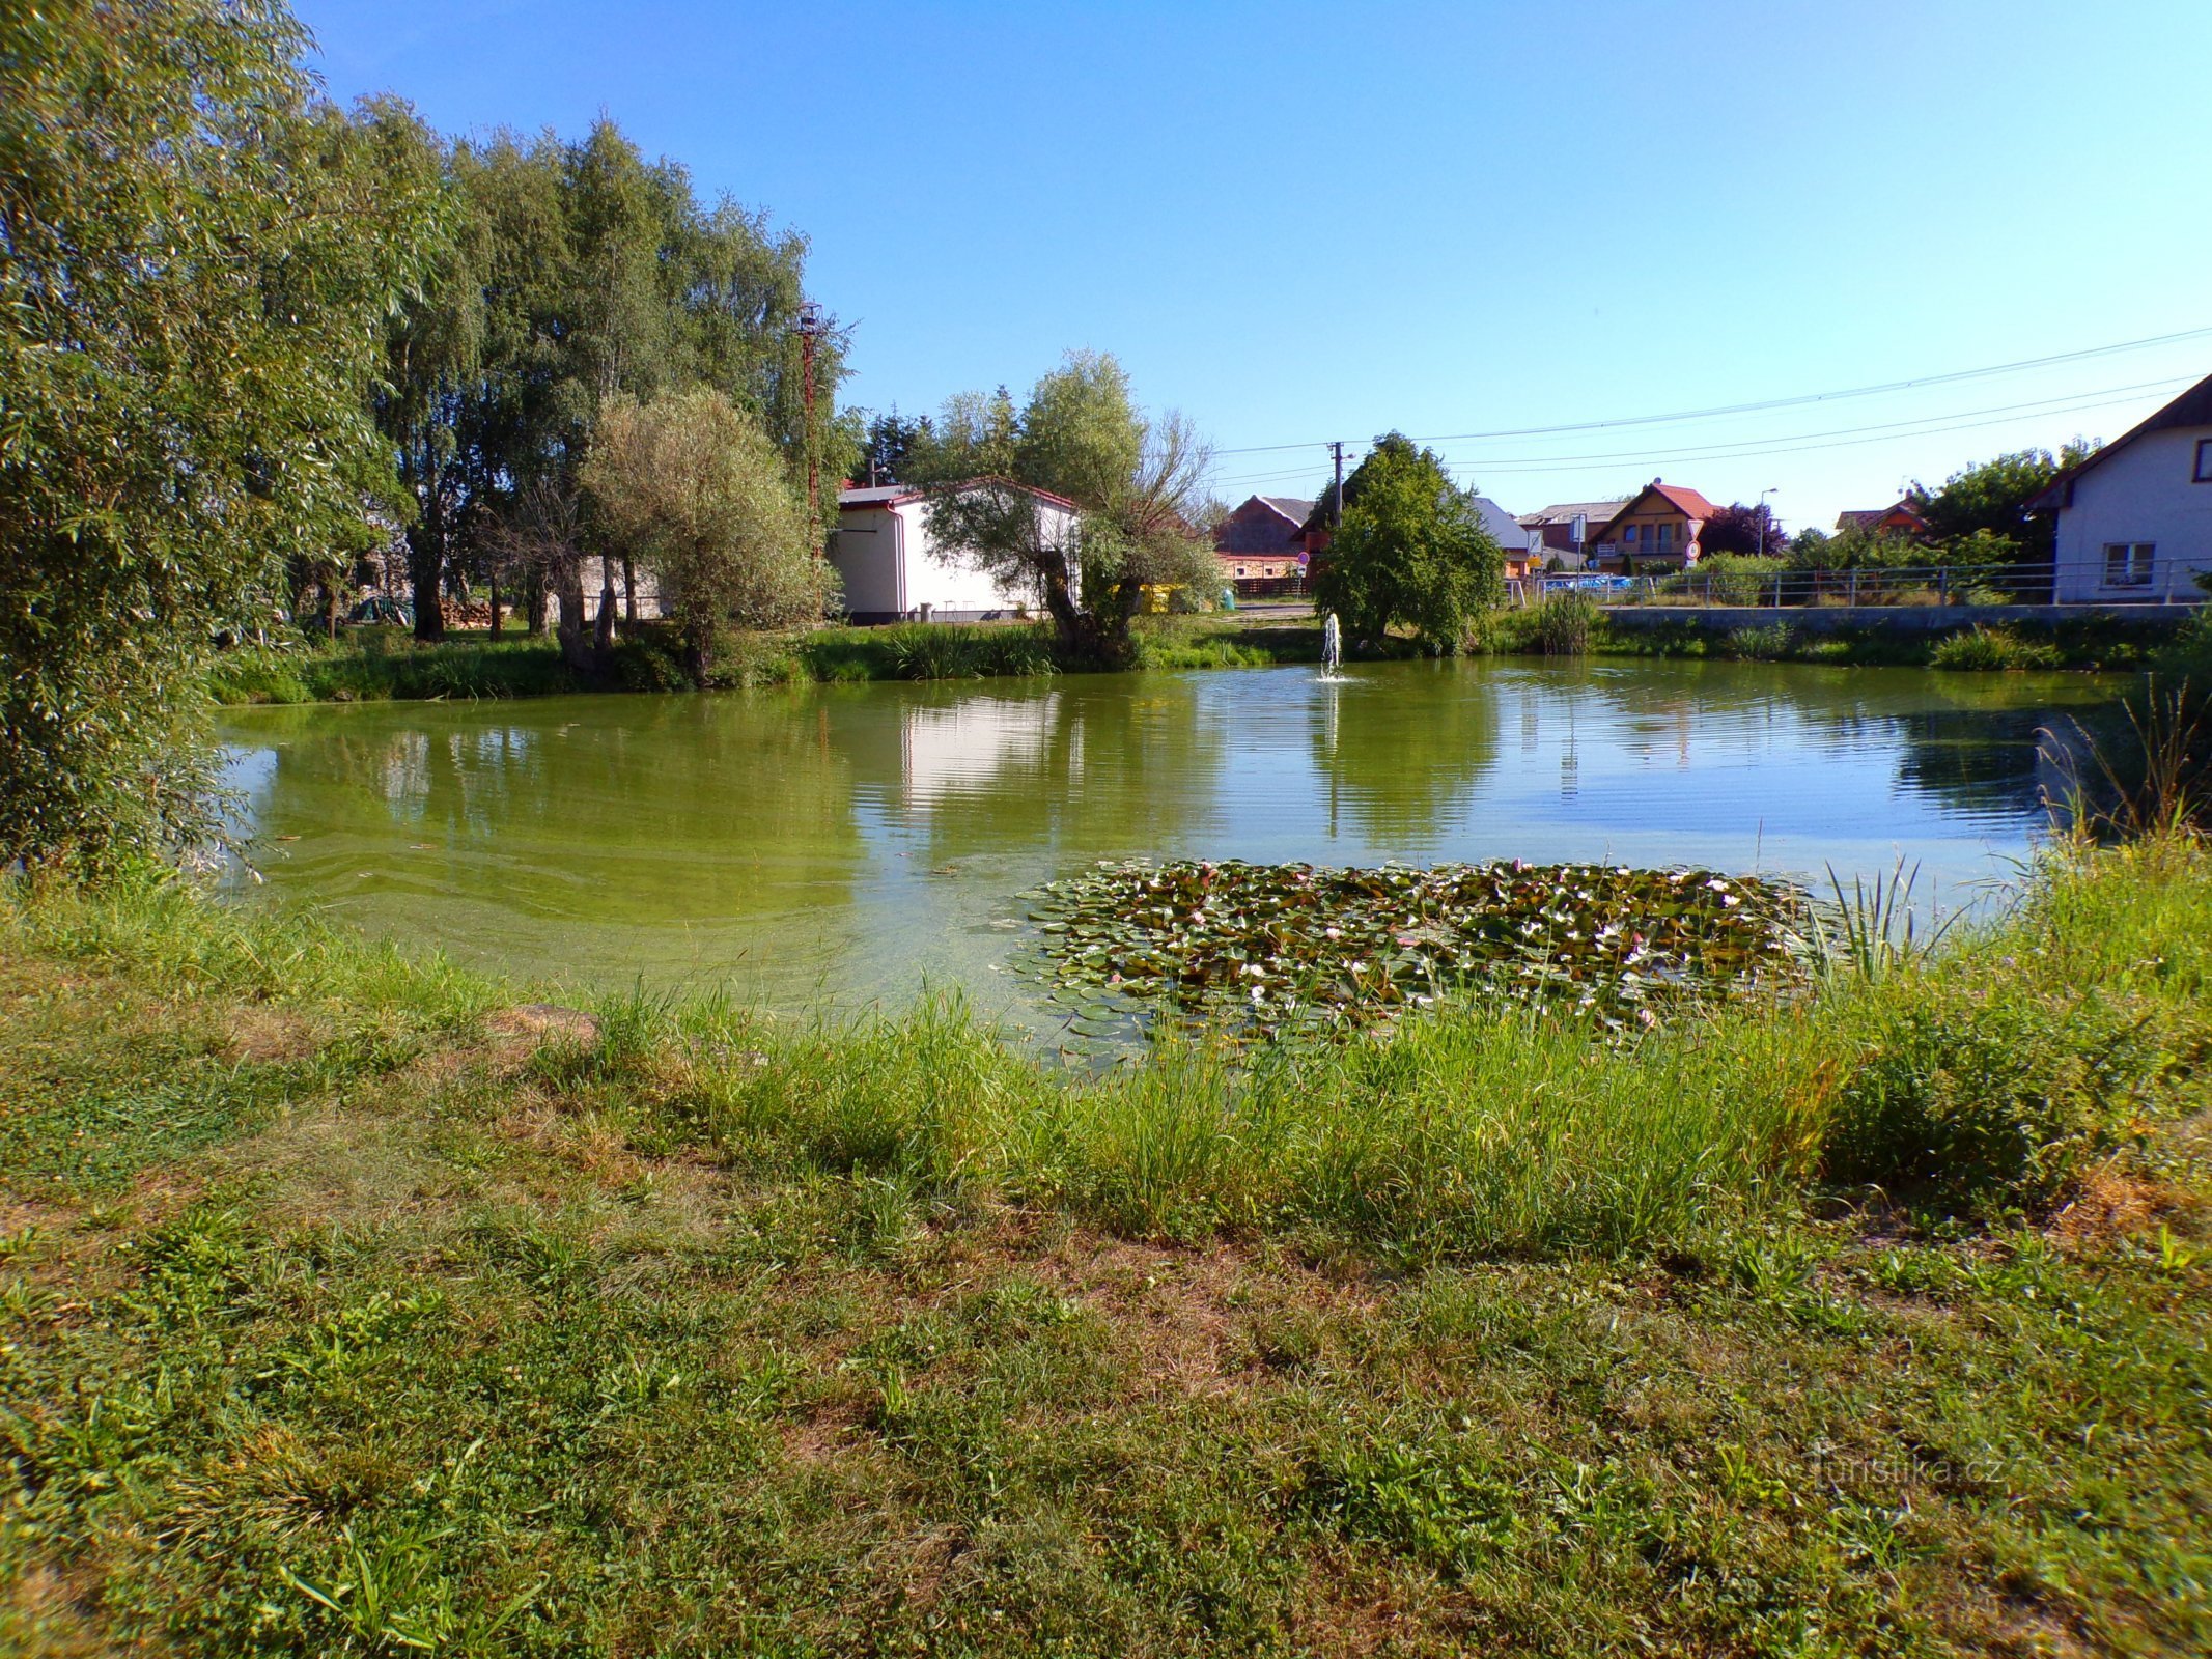
[[[1026,484],[978,480],[962,489],[1029,495],[1044,546],[1075,555],[1075,502]],[[902,484],[841,489],[830,562],[845,577],[854,622],[987,622],[1035,611],[1037,593],[1002,586],[987,571],[940,553],[929,538],[929,495]]]

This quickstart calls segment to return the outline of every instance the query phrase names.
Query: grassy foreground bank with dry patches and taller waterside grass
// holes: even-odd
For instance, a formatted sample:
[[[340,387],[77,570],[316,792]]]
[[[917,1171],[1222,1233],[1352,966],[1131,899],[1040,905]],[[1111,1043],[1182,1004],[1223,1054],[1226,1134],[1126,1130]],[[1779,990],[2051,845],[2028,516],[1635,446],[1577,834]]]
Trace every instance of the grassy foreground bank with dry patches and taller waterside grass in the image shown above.
[[[2212,860],[1630,1046],[0,911],[0,1648],[2199,1652]]]

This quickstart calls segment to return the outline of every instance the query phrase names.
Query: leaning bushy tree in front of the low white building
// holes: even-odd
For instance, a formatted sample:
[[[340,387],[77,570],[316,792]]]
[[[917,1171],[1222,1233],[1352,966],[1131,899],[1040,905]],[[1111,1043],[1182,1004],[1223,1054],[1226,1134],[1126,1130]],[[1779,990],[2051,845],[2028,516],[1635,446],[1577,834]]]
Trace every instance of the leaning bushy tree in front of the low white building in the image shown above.
[[[1214,584],[1197,533],[1208,458],[1183,416],[1135,405],[1113,356],[1068,352],[1020,414],[1006,387],[947,400],[907,458],[907,482],[936,489],[929,533],[940,546],[1035,593],[1068,650],[1121,661],[1148,586]],[[1073,533],[1037,489],[1075,504]]]

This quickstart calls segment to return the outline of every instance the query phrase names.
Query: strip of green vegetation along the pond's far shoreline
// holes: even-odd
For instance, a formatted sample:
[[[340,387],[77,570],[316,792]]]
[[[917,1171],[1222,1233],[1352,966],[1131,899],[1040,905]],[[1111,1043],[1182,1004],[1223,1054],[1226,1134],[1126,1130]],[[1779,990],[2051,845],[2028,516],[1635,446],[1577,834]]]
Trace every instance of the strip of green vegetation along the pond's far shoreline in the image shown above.
[[[1137,670],[1321,661],[1321,624],[1305,617],[1139,617],[1130,637],[1130,666]],[[2188,672],[2192,659],[2208,655],[2208,637],[2212,635],[2194,619],[2177,619],[2172,630],[2161,630],[2106,617],[1978,624],[1951,633],[1893,633],[1878,626],[1809,633],[1787,624],[1613,628],[1597,606],[1553,602],[1491,613],[1469,650],[1498,657],[1588,655],[1951,670],[2132,672],[2177,664],[2170,672]],[[1387,648],[1354,655],[1369,661],[1413,657],[1420,646],[1394,635]],[[456,630],[445,641],[422,644],[400,628],[352,628],[332,644],[288,639],[281,646],[234,646],[217,655],[208,686],[215,701],[226,706],[697,688],[681,650],[655,624],[619,639],[611,664],[606,675],[582,675],[564,664],[562,648],[551,637],[507,635],[493,641],[484,633]],[[896,624],[737,637],[717,655],[708,688],[1057,672],[1110,670],[1066,657],[1046,624]]]

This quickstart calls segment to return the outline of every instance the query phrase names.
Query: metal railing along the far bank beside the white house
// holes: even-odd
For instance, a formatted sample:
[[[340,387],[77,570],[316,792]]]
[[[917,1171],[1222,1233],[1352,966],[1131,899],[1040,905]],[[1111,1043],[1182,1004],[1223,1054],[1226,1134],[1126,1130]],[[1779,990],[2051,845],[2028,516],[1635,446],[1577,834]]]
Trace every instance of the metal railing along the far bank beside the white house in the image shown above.
[[[1553,573],[1522,584],[1522,604],[1548,593],[1579,591],[1599,604],[1655,606],[1949,606],[1949,604],[2051,604],[2053,564],[1913,564],[1856,571],[1743,571],[1690,566],[1668,575]],[[2099,606],[2192,604],[2197,588],[2172,568],[2163,580],[2101,588]]]

